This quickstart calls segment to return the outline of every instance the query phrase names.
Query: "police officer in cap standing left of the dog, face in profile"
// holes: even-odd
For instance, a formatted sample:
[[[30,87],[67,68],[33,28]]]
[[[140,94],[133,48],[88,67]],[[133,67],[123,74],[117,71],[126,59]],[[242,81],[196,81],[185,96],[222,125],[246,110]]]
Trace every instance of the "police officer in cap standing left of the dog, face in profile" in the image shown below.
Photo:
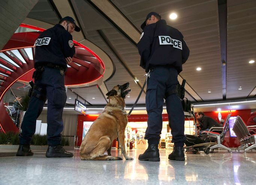
[[[30,141],[36,130],[36,119],[47,102],[47,157],[72,157],[60,145],[63,130],[62,112],[66,103],[64,72],[72,62],[74,44],[72,35],[80,28],[71,17],[64,17],[59,24],[42,32],[35,41],[35,85],[19,134],[17,156],[33,155]]]

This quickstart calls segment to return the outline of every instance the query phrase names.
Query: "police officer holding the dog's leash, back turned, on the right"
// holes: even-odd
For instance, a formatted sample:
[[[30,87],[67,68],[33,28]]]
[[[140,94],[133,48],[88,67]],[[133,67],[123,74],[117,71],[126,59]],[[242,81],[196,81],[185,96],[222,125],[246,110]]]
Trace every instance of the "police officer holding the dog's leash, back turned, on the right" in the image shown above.
[[[160,161],[158,143],[162,131],[164,98],[172,132],[173,152],[169,159],[184,161],[184,111],[176,94],[178,74],[189,56],[189,49],[179,30],[166,24],[156,12],[147,15],[141,25],[143,33],[137,44],[141,56],[140,66],[148,72],[146,110],[148,127],[145,139],[148,149],[139,160]]]

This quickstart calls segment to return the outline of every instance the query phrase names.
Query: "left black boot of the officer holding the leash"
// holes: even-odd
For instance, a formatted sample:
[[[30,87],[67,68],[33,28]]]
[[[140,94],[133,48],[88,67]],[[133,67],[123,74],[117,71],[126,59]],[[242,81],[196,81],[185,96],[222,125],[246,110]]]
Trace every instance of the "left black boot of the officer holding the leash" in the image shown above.
[[[148,149],[139,155],[140,161],[160,161],[158,144],[149,144]]]

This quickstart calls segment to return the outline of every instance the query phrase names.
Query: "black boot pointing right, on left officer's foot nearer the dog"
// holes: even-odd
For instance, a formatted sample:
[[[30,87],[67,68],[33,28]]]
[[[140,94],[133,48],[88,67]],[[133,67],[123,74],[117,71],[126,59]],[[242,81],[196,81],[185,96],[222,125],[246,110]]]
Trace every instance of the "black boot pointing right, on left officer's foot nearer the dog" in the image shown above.
[[[72,157],[73,153],[67,152],[61,145],[49,146],[45,154],[46,157]]]

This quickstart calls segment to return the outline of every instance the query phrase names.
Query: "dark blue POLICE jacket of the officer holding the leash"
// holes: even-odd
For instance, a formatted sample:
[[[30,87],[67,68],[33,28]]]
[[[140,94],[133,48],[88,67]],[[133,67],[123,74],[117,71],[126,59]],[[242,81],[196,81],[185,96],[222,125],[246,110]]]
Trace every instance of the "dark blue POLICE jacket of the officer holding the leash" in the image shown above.
[[[146,72],[160,65],[176,68],[179,74],[190,53],[181,32],[167,25],[165,20],[145,26],[137,47],[140,66]]]

